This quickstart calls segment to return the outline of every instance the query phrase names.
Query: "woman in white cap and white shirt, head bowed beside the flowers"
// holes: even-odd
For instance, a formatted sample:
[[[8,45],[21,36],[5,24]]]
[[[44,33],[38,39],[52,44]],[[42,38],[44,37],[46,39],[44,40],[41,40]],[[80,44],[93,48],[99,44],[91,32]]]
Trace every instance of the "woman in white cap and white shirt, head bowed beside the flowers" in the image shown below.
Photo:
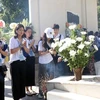
[[[39,98],[42,98],[43,92],[43,82],[48,79],[54,78],[55,65],[53,62],[53,57],[49,53],[50,40],[53,38],[53,29],[46,28],[42,40],[39,41],[38,51],[39,51]]]

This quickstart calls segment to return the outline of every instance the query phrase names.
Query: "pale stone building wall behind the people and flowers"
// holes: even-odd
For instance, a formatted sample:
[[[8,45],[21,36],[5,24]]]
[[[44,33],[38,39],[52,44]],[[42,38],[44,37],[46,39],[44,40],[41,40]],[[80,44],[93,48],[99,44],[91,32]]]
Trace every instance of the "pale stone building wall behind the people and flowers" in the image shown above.
[[[97,31],[97,0],[29,0],[30,21],[39,38],[47,27],[54,23],[60,25],[60,33],[65,32],[67,12],[72,12],[80,17],[80,24],[88,31]]]

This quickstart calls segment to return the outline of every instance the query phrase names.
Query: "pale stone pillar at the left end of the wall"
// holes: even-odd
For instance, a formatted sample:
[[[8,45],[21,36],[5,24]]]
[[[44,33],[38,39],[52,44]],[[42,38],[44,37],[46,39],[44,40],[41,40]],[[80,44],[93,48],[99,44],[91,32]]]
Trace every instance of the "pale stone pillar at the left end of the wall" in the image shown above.
[[[40,38],[39,0],[29,0],[29,22],[34,26],[36,43]]]

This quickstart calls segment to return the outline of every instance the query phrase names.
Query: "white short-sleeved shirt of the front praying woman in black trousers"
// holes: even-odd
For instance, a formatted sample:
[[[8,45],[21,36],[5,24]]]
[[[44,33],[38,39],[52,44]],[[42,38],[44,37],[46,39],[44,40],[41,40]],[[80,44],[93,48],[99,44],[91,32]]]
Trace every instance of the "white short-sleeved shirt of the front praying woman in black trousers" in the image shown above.
[[[12,37],[9,42],[9,50],[18,48],[19,45],[20,43],[18,41],[18,38]],[[10,54],[10,63],[17,61],[17,60],[23,61],[25,59],[26,58],[24,57],[22,50],[18,50],[16,53]]]

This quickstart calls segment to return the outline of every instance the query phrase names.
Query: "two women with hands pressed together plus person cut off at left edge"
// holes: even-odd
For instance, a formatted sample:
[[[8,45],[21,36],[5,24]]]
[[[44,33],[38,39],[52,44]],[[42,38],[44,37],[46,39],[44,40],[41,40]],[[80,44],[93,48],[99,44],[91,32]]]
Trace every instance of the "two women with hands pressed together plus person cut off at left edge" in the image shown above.
[[[9,52],[5,43],[0,45],[0,100],[4,100],[4,58],[10,56],[10,73],[12,79],[12,94],[14,100],[25,95],[36,94],[32,90],[35,85],[35,47],[31,27],[18,24],[14,30],[15,36],[9,41]],[[4,56],[4,57],[3,57]]]

